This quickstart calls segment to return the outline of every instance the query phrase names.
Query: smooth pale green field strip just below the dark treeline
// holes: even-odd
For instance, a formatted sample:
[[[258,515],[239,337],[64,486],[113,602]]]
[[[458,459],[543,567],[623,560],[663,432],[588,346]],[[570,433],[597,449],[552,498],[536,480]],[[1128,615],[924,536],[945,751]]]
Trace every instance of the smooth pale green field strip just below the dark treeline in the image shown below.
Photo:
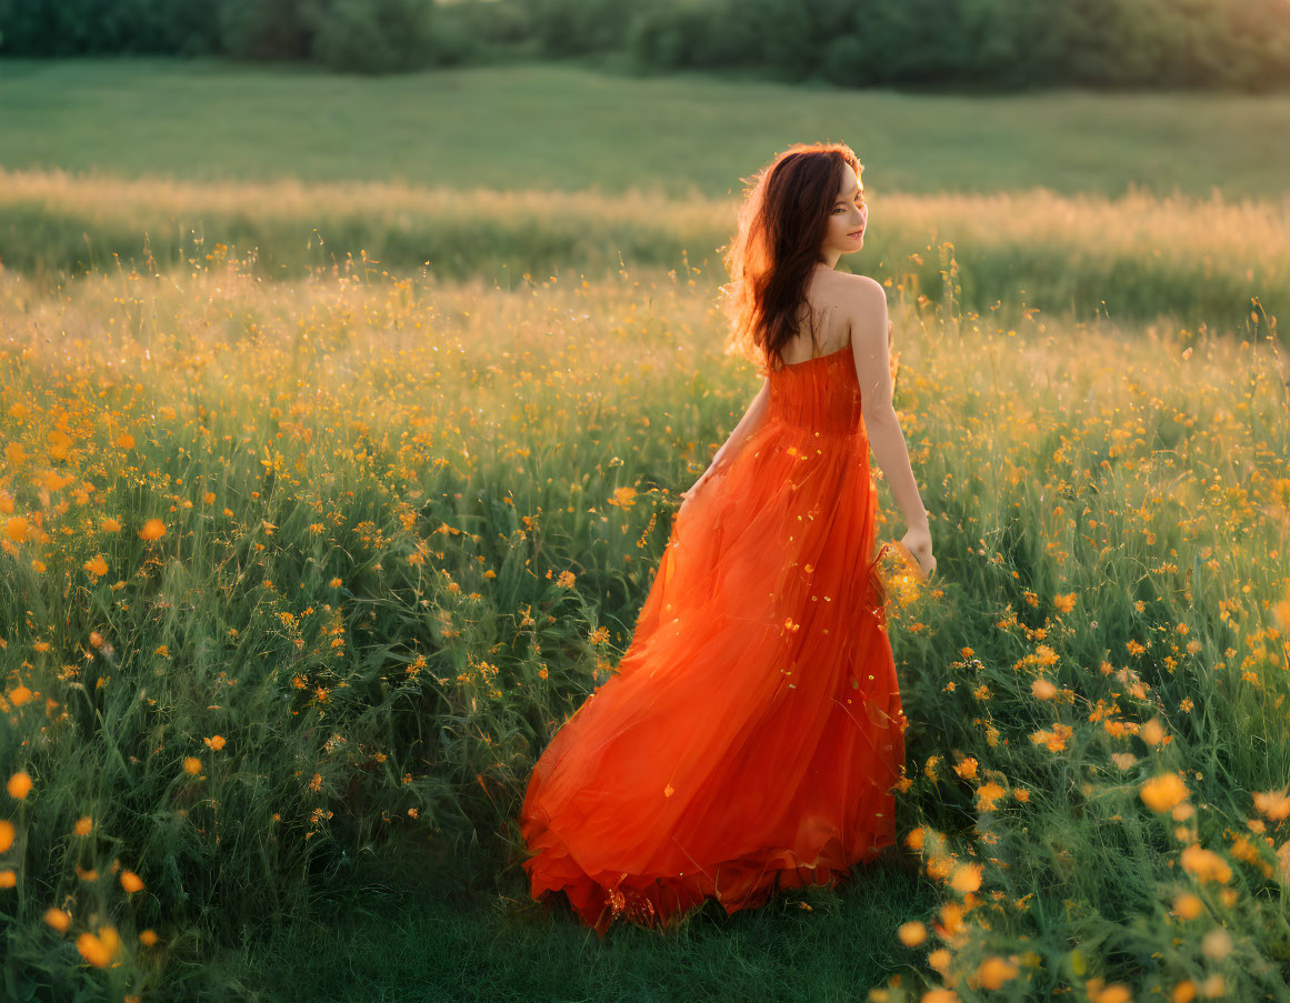
[[[1290,95],[955,97],[575,66],[364,79],[218,61],[0,62],[0,166],[450,188],[738,190],[792,142],[840,139],[873,192],[1129,186],[1280,196]],[[1198,220],[1204,224],[1204,220]]]

